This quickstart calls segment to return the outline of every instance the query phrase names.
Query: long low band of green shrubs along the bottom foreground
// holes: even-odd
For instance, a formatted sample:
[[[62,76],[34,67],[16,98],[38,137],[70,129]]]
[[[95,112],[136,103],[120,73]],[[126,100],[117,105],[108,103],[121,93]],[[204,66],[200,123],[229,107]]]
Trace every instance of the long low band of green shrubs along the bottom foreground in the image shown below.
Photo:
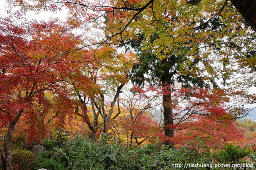
[[[190,143],[180,149],[156,144],[125,148],[106,139],[95,143],[77,136],[42,154],[35,168],[49,170],[175,170],[172,164],[210,164],[210,148]],[[194,147],[194,148],[193,148]],[[191,169],[191,168],[182,168]],[[194,168],[196,169],[196,168]],[[197,168],[203,170],[203,168]],[[207,170],[209,168],[205,168]]]

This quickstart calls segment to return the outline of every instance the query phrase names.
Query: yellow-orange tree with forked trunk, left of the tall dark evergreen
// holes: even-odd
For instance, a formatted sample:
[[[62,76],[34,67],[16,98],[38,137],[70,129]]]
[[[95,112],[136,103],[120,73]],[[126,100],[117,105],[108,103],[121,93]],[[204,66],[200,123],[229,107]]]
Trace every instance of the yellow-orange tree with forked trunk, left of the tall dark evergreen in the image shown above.
[[[128,82],[127,73],[132,66],[131,63],[136,62],[136,59],[133,58],[134,55],[132,53],[117,54],[114,48],[103,48],[102,51],[96,52],[96,57],[98,58],[96,61],[99,66],[98,76],[101,78],[98,78],[98,80],[95,78],[94,80],[100,86],[104,85],[93,96],[93,103],[104,120],[103,133],[107,134],[108,123],[112,119],[116,102],[118,112],[113,119],[120,114],[119,94]],[[110,104],[109,108],[107,103]]]

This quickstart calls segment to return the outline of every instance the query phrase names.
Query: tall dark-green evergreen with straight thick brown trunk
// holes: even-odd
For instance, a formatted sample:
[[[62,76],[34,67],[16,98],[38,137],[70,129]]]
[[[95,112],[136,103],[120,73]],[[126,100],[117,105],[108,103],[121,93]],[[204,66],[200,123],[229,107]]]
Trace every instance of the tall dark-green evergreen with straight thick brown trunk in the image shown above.
[[[188,62],[188,58],[186,56],[189,50],[188,48],[184,47],[174,49],[174,54],[170,54],[168,57],[160,59],[156,56],[156,54],[154,54],[153,49],[142,50],[142,48],[138,46],[138,44],[140,44],[143,40],[143,34],[140,36],[140,40],[137,40],[136,42],[130,42],[131,46],[136,48],[138,57],[140,59],[140,63],[134,64],[134,67],[130,73],[130,77],[133,82],[140,86],[144,86],[146,80],[151,85],[162,86],[163,91],[166,85],[174,85],[176,82],[179,82],[184,87],[191,87],[195,85],[208,86],[208,84],[204,83],[204,77],[200,76],[200,74],[198,74],[198,72],[193,69],[196,64],[198,64],[199,60],[195,60],[194,64],[189,66],[189,69],[192,69],[193,72],[188,74],[183,73],[182,65]],[[158,33],[154,33],[151,39],[152,43],[158,38]],[[164,106],[164,126],[167,124],[173,125],[173,104],[171,94],[163,92],[162,101]],[[169,137],[174,137],[174,130],[165,127],[164,134]]]

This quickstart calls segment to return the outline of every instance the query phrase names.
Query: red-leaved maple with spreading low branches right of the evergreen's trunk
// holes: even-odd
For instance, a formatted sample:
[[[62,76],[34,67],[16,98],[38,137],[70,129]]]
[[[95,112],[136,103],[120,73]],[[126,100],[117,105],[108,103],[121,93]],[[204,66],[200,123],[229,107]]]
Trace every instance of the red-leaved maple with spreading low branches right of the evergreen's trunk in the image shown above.
[[[212,145],[242,138],[242,132],[234,122],[239,113],[229,112],[226,107],[229,98],[223,90],[175,88],[170,85],[154,89],[157,94],[172,95],[172,102],[168,104],[172,105],[174,123],[165,125],[174,130],[174,138],[170,139],[172,143],[184,144],[184,141],[200,137]]]

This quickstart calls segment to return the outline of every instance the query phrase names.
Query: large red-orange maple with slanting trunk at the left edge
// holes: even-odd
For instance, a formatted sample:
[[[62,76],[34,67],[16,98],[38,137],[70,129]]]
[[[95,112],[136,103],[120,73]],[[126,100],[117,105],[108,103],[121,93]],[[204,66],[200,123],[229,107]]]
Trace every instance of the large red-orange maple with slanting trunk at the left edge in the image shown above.
[[[80,44],[72,27],[58,20],[15,23],[1,18],[0,26],[0,112],[2,126],[8,126],[4,141],[6,170],[13,170],[10,143],[21,116],[42,116],[34,106],[44,103],[46,93],[68,99],[66,80],[76,71],[74,53]],[[87,61],[86,55],[82,57]]]

